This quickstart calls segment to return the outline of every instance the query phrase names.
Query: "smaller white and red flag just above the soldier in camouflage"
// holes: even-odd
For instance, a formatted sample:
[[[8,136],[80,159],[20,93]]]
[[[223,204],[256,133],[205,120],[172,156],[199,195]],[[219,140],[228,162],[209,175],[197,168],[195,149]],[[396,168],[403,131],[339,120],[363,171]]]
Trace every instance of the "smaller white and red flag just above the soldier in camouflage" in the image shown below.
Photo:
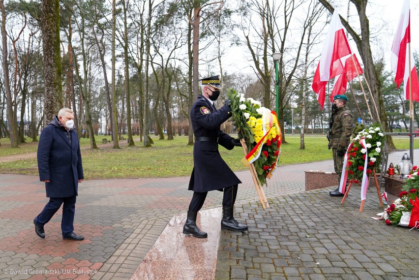
[[[347,83],[363,73],[355,54],[341,58],[340,61],[343,64],[344,72],[334,78],[333,89],[330,93],[330,102],[333,102],[334,95],[345,93]]]

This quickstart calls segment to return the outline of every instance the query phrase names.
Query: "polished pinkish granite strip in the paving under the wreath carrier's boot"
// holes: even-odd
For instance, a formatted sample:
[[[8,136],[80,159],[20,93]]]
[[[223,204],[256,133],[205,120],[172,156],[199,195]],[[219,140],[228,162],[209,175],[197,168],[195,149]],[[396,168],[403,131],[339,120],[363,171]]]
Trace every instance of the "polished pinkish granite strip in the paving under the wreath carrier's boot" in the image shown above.
[[[208,238],[186,236],[186,214],[173,217],[131,280],[208,280],[215,275],[221,207],[198,212],[197,225]]]

